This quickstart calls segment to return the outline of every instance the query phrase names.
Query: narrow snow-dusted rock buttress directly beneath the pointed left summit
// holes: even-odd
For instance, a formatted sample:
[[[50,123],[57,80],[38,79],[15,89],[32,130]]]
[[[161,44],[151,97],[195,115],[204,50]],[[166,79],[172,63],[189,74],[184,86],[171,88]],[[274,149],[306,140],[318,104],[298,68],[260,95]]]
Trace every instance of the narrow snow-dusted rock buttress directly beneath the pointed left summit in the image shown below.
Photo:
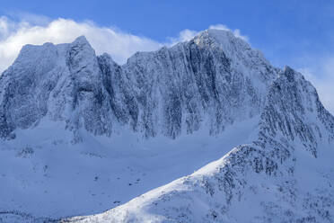
[[[60,89],[52,94],[60,109],[66,111],[67,127],[87,129],[93,134],[110,134],[113,121],[108,94],[94,50],[84,37],[75,40],[68,49],[66,76]],[[66,93],[65,95],[61,95]],[[58,107],[56,107],[58,109]],[[64,112],[60,112],[64,113]],[[55,113],[54,116],[57,114]]]

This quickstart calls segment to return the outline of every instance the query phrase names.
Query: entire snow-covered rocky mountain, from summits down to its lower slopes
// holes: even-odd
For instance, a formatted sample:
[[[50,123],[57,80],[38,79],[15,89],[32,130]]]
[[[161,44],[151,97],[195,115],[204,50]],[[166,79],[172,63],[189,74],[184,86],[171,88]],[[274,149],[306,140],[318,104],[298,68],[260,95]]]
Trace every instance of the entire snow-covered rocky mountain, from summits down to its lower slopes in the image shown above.
[[[334,221],[334,117],[300,73],[272,67],[230,31],[203,31],[122,66],[84,37],[28,45],[0,91],[4,166],[18,168],[2,187],[57,209],[3,194],[4,222]],[[36,132],[46,137],[27,139]],[[74,203],[62,200],[66,188]],[[91,190],[113,209],[89,216],[102,212]],[[122,191],[126,201],[111,204]],[[72,212],[60,211],[64,203]],[[74,215],[88,216],[64,219]]]

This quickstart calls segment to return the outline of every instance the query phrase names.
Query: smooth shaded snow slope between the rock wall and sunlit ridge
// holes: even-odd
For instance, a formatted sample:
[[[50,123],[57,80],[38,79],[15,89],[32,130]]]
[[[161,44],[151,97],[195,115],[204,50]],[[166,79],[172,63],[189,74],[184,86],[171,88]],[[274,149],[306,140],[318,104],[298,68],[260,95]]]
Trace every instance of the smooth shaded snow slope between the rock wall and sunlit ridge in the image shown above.
[[[247,140],[256,119],[225,129],[219,138],[205,131],[174,140],[86,133],[84,143],[75,145],[51,124],[16,132],[20,141],[4,142],[1,210],[49,218],[108,210],[224,156]],[[239,132],[244,135],[236,137]]]

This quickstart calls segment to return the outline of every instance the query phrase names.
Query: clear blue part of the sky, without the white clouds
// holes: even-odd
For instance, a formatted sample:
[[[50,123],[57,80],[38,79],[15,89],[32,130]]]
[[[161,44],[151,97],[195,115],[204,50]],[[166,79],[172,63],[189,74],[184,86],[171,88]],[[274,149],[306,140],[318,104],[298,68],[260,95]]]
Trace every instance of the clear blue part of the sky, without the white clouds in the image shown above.
[[[224,24],[232,30],[239,29],[275,66],[290,65],[302,70],[314,85],[321,88],[321,98],[330,103],[328,106],[334,111],[334,100],[330,101],[334,92],[329,92],[334,84],[332,0],[2,0],[0,16],[11,24],[29,22],[31,27],[45,26],[58,18],[90,21],[96,27],[109,27],[145,39],[147,42],[141,42],[142,47],[138,50],[156,49],[159,43],[177,39],[180,31],[202,31],[210,25]],[[6,40],[18,29],[10,29],[2,39]],[[156,45],[149,45],[150,40]],[[131,47],[137,49],[128,45]],[[322,92],[324,88],[327,89],[326,96]]]

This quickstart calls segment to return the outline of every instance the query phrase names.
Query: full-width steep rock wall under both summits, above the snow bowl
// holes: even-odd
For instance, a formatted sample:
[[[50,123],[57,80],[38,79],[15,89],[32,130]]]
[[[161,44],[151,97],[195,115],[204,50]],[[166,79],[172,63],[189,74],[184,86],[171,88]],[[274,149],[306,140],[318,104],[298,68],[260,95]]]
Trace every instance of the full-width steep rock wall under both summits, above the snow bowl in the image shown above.
[[[106,54],[96,57],[84,37],[26,46],[1,77],[1,137],[43,118],[65,121],[75,141],[79,129],[110,136],[125,125],[145,137],[176,138],[200,128],[218,134],[259,115],[277,72],[228,31],[136,53],[123,66]]]

